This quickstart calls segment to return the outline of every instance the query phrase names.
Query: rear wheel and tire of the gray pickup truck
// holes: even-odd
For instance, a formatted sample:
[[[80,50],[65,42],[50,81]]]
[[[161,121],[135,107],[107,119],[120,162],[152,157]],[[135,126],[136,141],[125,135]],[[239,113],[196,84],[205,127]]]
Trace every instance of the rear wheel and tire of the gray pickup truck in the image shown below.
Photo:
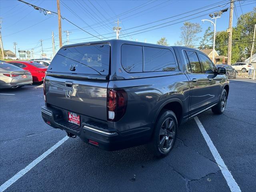
[[[172,150],[177,135],[178,121],[174,112],[164,110],[159,116],[154,129],[150,150],[157,157],[163,157]]]

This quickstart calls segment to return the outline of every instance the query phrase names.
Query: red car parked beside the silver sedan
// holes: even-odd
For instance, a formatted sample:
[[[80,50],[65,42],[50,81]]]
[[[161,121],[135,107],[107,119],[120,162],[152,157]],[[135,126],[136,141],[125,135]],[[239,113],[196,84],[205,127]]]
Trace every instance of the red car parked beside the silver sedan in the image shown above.
[[[33,77],[33,82],[41,82],[44,80],[45,72],[48,67],[32,62],[32,61],[8,61],[8,63],[13,64],[24,70],[28,70]]]

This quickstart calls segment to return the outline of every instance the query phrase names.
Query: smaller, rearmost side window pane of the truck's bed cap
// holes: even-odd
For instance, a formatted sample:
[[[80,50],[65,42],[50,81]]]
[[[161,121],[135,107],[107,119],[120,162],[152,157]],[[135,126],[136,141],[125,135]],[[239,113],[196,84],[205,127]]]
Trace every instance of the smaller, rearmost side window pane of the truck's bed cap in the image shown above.
[[[121,47],[121,63],[128,73],[142,72],[142,46],[123,44]]]

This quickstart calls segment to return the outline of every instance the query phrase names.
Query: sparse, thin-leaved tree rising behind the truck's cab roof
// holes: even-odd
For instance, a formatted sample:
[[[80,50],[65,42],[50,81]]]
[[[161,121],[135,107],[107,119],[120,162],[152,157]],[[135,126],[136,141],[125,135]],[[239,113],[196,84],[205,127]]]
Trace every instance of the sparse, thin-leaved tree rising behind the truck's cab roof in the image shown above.
[[[198,40],[197,34],[202,31],[202,27],[199,23],[184,22],[180,28],[181,35],[180,41],[177,41],[177,45],[191,46]]]

